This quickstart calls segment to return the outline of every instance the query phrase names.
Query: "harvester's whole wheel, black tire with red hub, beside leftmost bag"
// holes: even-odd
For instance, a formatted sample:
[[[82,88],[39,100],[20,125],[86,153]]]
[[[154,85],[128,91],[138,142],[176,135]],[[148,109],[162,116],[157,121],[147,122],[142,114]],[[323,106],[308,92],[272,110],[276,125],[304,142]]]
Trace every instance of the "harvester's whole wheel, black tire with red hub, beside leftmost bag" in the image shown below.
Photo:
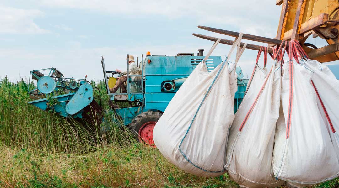
[[[156,147],[153,140],[153,129],[161,115],[160,112],[143,112],[132,120],[128,128],[132,131],[136,140]]]

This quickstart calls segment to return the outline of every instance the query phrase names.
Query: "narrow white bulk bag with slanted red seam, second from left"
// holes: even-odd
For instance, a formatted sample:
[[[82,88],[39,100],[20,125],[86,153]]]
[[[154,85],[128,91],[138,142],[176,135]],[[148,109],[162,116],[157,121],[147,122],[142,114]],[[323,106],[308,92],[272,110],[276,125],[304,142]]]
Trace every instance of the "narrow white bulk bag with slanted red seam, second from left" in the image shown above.
[[[280,62],[275,61],[267,76],[257,64],[231,126],[225,168],[243,187],[279,187],[284,181],[274,177],[272,153],[280,106]]]

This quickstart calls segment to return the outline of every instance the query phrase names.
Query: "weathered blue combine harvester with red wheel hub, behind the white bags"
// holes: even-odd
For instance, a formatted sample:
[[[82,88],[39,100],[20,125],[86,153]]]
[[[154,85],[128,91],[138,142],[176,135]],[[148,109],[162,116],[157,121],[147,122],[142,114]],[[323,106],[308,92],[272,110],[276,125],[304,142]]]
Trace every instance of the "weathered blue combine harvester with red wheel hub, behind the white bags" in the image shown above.
[[[126,101],[131,107],[112,107],[111,114],[135,134],[136,139],[149,145],[154,145],[153,128],[165,111],[169,101],[178,91],[185,79],[202,61],[200,56],[193,53],[177,54],[176,56],[151,56],[143,58],[139,65],[140,75],[129,75],[127,68],[127,93],[110,93],[109,88],[115,85],[116,77],[121,74],[115,71],[106,71],[102,56],[102,68],[107,88],[107,95],[111,101]],[[128,59],[128,55],[127,55]],[[138,60],[137,60],[138,62]],[[212,71],[221,63],[220,56],[210,56],[206,61],[208,71]],[[47,73],[43,74],[43,71]],[[240,67],[238,74],[238,91],[235,95],[236,112],[244,96],[247,79],[242,79]],[[112,74],[107,76],[107,73]],[[138,77],[138,79],[131,79]],[[84,120],[92,124],[105,122],[104,113],[93,98],[93,87],[85,79],[64,78],[55,68],[33,70],[30,78],[37,80],[37,88],[28,93],[31,98],[37,99],[28,103],[44,111],[54,111],[63,117]],[[134,81],[132,81],[134,80]],[[110,112],[106,112],[110,113]],[[95,115],[94,115],[95,114]],[[105,123],[102,123],[105,124]],[[103,125],[105,127],[105,125]],[[103,128],[107,130],[107,128]]]

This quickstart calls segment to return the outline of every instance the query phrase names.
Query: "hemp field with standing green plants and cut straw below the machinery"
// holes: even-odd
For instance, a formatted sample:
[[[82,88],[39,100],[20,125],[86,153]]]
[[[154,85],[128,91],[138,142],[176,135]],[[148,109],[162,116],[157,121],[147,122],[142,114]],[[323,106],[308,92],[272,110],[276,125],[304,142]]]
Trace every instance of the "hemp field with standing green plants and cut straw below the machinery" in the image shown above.
[[[106,103],[102,82],[92,85]],[[202,178],[180,170],[118,124],[101,135],[100,125],[43,112],[26,102],[27,87],[0,80],[0,187],[239,187],[227,174]],[[313,187],[339,187],[339,179]]]

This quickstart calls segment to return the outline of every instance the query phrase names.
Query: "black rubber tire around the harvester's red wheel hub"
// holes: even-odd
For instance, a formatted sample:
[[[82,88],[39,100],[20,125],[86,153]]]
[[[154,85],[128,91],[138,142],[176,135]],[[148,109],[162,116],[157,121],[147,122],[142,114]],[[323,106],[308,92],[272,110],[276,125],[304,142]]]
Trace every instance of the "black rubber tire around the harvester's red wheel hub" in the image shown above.
[[[148,122],[157,122],[159,120],[159,118],[161,117],[161,115],[162,114],[160,112],[154,112],[154,111],[143,112],[143,113],[135,116],[135,118],[129,124],[128,128],[133,133],[134,138],[137,141],[140,142],[140,141],[142,141],[141,137],[139,136],[139,132],[140,132],[141,127]],[[152,130],[152,140],[153,140],[153,130]],[[150,144],[148,144],[148,145],[150,145]],[[154,145],[154,144],[152,144],[152,145]]]

